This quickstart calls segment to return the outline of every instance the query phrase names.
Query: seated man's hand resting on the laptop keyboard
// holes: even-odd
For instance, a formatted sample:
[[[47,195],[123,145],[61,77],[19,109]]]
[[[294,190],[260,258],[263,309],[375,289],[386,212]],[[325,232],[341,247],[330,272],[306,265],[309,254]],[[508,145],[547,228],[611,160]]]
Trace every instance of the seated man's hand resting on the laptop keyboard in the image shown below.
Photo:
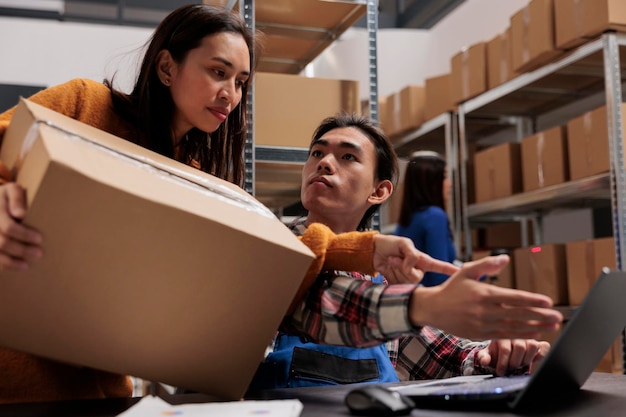
[[[480,366],[498,376],[532,373],[550,350],[550,343],[534,339],[496,339],[477,354]]]

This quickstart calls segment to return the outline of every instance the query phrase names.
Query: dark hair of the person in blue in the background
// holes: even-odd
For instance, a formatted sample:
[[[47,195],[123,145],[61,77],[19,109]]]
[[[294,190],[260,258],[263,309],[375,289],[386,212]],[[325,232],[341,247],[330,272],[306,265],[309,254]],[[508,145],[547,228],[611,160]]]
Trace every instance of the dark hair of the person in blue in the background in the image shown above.
[[[446,160],[436,152],[421,151],[411,156],[404,174],[402,204],[398,222],[402,226],[411,223],[416,211],[429,206],[445,211],[443,180],[446,178]]]

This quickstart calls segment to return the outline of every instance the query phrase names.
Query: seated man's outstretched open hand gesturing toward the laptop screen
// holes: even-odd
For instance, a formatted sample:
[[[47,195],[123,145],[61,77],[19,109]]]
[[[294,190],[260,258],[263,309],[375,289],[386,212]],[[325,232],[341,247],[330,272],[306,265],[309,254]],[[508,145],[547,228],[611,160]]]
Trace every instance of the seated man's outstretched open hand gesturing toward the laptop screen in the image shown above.
[[[558,330],[563,315],[550,297],[477,281],[508,262],[507,255],[467,262],[443,284],[416,288],[409,302],[411,323],[475,340],[538,339]]]

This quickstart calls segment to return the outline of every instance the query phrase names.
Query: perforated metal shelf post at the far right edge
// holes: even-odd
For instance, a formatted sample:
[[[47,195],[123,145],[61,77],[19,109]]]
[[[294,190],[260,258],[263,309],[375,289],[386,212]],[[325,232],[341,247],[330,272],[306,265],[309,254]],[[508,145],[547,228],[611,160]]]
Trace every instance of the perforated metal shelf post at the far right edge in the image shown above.
[[[602,35],[604,56],[604,86],[609,133],[611,207],[617,269],[624,270],[624,222],[626,220],[626,179],[624,174],[624,126],[622,124],[622,82],[617,34]],[[622,331],[622,373],[626,374],[626,332]]]

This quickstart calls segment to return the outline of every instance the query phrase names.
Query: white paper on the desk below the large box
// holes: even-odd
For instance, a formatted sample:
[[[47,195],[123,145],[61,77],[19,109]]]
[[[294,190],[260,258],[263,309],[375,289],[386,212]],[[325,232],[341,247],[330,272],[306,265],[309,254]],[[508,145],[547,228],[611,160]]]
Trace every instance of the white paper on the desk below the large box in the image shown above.
[[[159,397],[146,396],[118,417],[299,417],[299,400],[227,401],[219,403],[172,405]]]

